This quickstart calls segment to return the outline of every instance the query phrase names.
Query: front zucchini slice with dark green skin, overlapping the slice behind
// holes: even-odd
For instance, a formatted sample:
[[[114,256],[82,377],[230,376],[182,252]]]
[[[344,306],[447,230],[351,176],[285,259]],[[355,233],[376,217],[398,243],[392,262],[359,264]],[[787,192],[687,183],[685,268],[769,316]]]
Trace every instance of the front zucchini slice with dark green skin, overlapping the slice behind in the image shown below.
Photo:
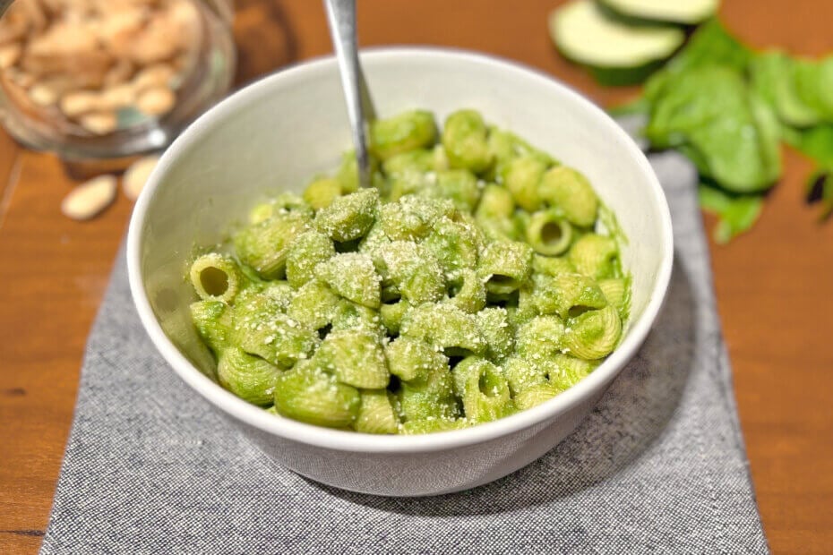
[[[685,40],[683,30],[675,27],[615,21],[592,0],[573,0],[554,10],[549,30],[565,57],[589,66],[605,84],[644,80]]]

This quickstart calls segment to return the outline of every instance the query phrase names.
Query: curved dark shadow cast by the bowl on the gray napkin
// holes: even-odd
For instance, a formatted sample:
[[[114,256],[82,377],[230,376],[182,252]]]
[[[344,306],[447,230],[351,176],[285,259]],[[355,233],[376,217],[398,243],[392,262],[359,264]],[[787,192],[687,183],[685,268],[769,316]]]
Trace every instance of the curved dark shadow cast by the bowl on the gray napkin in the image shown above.
[[[429,517],[500,513],[582,491],[629,465],[666,428],[695,363],[694,347],[699,338],[696,310],[688,277],[676,264],[666,305],[654,329],[598,406],[558,447],[496,482],[413,499],[383,498],[310,483],[367,507]]]

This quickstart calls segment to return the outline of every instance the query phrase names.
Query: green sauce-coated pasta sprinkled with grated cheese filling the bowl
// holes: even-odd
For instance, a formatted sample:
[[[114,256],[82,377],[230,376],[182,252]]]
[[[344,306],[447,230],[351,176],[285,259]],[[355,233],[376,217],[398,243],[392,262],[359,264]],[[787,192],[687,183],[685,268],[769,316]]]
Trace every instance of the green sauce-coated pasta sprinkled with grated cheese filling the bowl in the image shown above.
[[[374,434],[545,403],[618,345],[619,237],[588,179],[474,110],[411,110],[301,194],[261,201],[187,279],[219,385],[271,414]],[[206,354],[210,356],[210,354]]]

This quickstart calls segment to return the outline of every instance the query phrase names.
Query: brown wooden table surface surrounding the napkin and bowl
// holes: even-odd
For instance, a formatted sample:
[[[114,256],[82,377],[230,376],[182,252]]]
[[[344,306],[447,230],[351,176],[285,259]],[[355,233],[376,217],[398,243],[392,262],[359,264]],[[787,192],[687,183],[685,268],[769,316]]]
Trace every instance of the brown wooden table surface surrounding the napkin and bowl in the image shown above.
[[[603,89],[554,52],[545,28],[557,0],[361,0],[364,45],[447,45],[500,55]],[[330,52],[320,2],[236,3],[238,82]],[[829,0],[725,0],[727,26],[755,47],[833,51]],[[760,223],[711,246],[717,301],[734,367],[751,474],[772,551],[833,552],[833,221],[803,203],[809,162],[786,174]],[[82,353],[132,205],[123,196],[78,223],[59,204],[76,183],[50,154],[0,134],[0,552],[35,552],[73,415]]]

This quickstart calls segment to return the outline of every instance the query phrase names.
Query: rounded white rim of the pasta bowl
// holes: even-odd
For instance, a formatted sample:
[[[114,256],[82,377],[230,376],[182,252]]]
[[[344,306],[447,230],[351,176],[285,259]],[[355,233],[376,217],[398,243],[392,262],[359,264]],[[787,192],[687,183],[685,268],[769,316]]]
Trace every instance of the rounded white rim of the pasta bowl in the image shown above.
[[[658,217],[663,252],[661,253],[660,267],[656,277],[656,286],[644,312],[638,320],[632,322],[629,335],[595,371],[573,387],[541,405],[494,422],[477,424],[461,430],[421,435],[387,436],[358,433],[356,431],[339,431],[269,414],[261,407],[253,406],[236,397],[195,368],[165,335],[150,308],[150,301],[143,286],[141,273],[142,230],[148,214],[150,199],[159,189],[162,176],[167,173],[172,161],[185,149],[190,148],[194,142],[199,141],[204,132],[210,132],[210,128],[216,121],[234,114],[238,108],[245,107],[251,99],[258,98],[265,90],[271,90],[272,87],[288,86],[293,81],[303,81],[319,73],[337,72],[335,58],[332,55],[326,55],[291,65],[279,72],[254,81],[241,90],[237,90],[195,120],[159,158],[158,165],[151,172],[148,182],[133,208],[133,216],[128,228],[126,252],[128,279],[133,303],[154,346],[162,354],[167,364],[176,371],[182,380],[185,380],[186,384],[195,389],[210,404],[218,406],[236,420],[286,440],[293,440],[319,448],[349,452],[426,453],[483,443],[509,435],[515,431],[527,429],[536,424],[545,423],[547,420],[557,417],[558,414],[565,413],[571,408],[586,402],[590,397],[601,393],[606,384],[612,381],[619,371],[622,371],[625,364],[636,354],[645,337],[648,336],[648,331],[664,303],[671,278],[674,258],[671,214],[665,193],[659,184],[657,175],[648,163],[648,158],[645,157],[631,137],[604,110],[597,107],[578,91],[556,80],[553,76],[525,64],[519,64],[495,55],[448,47],[363,48],[361,57],[363,63],[367,65],[382,64],[391,61],[391,59],[401,61],[407,58],[423,58],[434,61],[442,60],[496,66],[503,73],[507,73],[508,76],[522,76],[524,79],[536,81],[541,86],[559,90],[562,95],[571,98],[571,101],[586,110],[590,116],[601,120],[600,123],[604,124],[607,130],[618,138],[623,147],[628,149],[631,156],[636,159],[648,182],[648,189],[654,197],[653,201],[659,208]]]

